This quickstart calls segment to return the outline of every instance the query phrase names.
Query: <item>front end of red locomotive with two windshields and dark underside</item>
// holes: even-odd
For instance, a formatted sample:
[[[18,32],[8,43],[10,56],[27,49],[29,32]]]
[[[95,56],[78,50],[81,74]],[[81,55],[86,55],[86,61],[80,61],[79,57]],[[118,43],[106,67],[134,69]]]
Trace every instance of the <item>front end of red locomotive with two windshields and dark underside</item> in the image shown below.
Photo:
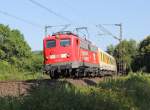
[[[76,39],[71,33],[56,33],[44,39],[44,69],[51,78],[68,75],[76,68]]]

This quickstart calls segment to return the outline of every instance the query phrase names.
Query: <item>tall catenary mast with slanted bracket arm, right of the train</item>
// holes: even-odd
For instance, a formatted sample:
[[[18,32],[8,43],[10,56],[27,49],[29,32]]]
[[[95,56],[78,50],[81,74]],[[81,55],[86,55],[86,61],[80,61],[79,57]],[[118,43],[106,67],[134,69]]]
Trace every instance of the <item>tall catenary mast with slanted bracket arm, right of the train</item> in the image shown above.
[[[108,31],[105,27],[102,26],[102,24],[97,25],[97,27],[103,31],[105,34],[112,36],[114,39],[119,41],[120,47],[119,47],[119,61],[117,61],[118,64],[118,74],[125,74],[125,67],[123,63],[123,51],[122,51],[122,24],[103,24],[103,25],[113,25],[113,26],[119,26],[119,36],[113,35],[110,31]],[[103,34],[100,34],[103,35]]]

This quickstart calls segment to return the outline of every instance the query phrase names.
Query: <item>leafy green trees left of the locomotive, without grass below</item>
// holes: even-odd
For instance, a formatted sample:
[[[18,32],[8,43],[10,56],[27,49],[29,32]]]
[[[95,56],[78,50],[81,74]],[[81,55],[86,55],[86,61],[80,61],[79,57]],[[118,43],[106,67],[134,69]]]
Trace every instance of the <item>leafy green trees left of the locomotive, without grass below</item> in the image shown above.
[[[43,64],[42,52],[32,52],[23,34],[0,24],[0,68],[39,72]],[[7,71],[7,69],[5,70]],[[3,72],[3,71],[0,71]]]

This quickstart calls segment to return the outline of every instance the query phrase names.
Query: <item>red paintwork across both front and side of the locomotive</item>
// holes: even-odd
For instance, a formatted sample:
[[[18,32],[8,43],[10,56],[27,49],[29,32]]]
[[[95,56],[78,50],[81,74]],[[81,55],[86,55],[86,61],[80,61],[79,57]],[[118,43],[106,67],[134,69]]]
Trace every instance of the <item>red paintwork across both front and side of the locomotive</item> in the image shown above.
[[[56,35],[57,36],[57,35]],[[90,64],[98,64],[98,53],[92,52],[85,49],[80,49],[81,38],[76,35],[59,34],[59,38],[56,36],[48,36],[43,40],[43,53],[44,53],[44,64],[55,64],[60,62],[87,62]],[[71,45],[67,47],[60,46],[60,39],[69,38]],[[46,48],[47,40],[56,40],[56,47]],[[78,40],[78,41],[77,41]],[[61,54],[69,54],[68,58],[61,58]],[[56,55],[55,59],[49,59],[50,55]]]

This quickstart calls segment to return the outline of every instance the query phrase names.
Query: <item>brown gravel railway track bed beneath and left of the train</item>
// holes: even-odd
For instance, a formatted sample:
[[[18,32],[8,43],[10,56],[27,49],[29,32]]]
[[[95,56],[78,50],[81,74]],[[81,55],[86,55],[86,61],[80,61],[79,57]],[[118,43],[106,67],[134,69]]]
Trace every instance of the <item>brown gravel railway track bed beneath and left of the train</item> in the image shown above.
[[[0,96],[22,96],[27,94],[31,87],[38,86],[41,84],[53,87],[57,84],[63,84],[64,82],[70,83],[74,86],[95,86],[100,81],[106,81],[110,78],[82,78],[82,79],[39,79],[39,80],[28,80],[28,81],[0,81]]]

